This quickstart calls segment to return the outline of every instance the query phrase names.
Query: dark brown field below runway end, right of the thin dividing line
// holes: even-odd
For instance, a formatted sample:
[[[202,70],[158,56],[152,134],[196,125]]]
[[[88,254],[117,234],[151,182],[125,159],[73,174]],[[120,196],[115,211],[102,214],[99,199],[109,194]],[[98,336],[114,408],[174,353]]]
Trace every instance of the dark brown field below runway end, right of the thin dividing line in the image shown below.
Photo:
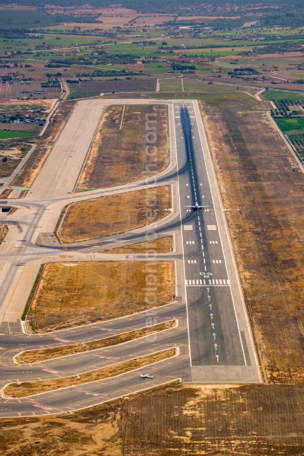
[[[129,400],[125,454],[303,454],[303,387],[179,385]]]

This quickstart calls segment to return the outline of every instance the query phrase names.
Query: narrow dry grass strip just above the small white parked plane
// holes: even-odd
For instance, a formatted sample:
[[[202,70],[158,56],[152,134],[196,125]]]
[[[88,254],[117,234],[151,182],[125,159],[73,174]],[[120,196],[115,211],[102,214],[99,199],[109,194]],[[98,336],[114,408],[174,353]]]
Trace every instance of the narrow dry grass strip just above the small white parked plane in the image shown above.
[[[147,366],[148,364],[157,363],[158,361],[162,361],[163,359],[170,358],[174,355],[175,348],[171,348],[170,350],[163,350],[162,352],[152,353],[151,355],[136,358],[136,360],[132,359],[131,361],[125,361],[123,363],[113,364],[112,366],[107,366],[105,368],[96,369],[91,372],[85,372],[79,374],[77,378],[73,376],[66,378],[54,378],[53,380],[24,382],[21,384],[10,383],[5,388],[5,395],[22,398],[24,396],[30,396],[31,394],[52,391],[57,387],[66,388],[68,386],[95,382],[96,380],[114,377],[115,375],[119,375],[133,369],[141,368],[143,366]]]

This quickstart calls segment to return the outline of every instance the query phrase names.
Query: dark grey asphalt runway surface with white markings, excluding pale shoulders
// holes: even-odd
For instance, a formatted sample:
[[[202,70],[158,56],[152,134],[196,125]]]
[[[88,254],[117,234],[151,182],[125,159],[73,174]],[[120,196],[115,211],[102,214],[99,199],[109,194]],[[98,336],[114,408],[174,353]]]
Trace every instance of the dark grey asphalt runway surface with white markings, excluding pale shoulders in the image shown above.
[[[187,206],[195,203],[206,206],[190,212],[187,222],[182,221],[191,363],[243,365],[246,358],[233,309],[208,177],[202,154],[199,154],[194,110],[188,104],[192,114],[190,119],[185,106],[183,104],[180,108],[180,122],[176,119],[184,139],[178,143],[179,156],[184,155],[187,166],[179,176],[182,211],[191,211]]]

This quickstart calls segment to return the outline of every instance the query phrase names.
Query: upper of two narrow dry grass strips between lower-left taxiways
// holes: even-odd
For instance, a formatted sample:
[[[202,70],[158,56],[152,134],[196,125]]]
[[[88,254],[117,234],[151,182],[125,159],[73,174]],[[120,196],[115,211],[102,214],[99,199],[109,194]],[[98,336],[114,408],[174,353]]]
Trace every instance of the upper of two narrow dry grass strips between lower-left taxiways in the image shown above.
[[[97,350],[98,348],[112,347],[113,345],[128,342],[133,339],[138,339],[139,337],[147,336],[148,334],[152,334],[154,332],[173,328],[175,324],[176,321],[171,320],[164,323],[159,323],[158,325],[145,326],[141,329],[124,332],[123,334],[118,334],[117,336],[105,337],[105,339],[100,339],[94,342],[67,345],[62,347],[42,348],[40,350],[31,350],[29,352],[23,352],[16,358],[16,361],[18,363],[39,363],[40,361],[45,361],[46,359],[59,358],[71,355],[75,352],[83,353],[89,352],[91,350]]]

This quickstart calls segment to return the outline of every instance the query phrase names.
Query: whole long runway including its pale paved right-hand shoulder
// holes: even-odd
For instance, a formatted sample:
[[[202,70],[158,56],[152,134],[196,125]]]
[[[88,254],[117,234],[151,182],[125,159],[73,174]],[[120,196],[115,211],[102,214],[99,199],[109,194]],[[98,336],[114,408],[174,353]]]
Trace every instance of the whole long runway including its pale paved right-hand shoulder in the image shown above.
[[[225,381],[229,381],[229,371],[233,375],[233,366],[245,366],[252,381],[259,381],[241,290],[235,285],[236,270],[231,267],[228,273],[227,269],[232,252],[224,224],[218,223],[223,211],[219,193],[210,187],[209,150],[206,144],[204,150],[199,131],[201,117],[194,102],[179,101],[174,103],[174,119],[178,168],[183,170],[178,172],[178,185],[192,380],[200,380],[204,366],[214,366],[209,370],[210,381],[223,379],[221,366],[230,367]],[[192,211],[189,206],[195,204],[203,208]]]

